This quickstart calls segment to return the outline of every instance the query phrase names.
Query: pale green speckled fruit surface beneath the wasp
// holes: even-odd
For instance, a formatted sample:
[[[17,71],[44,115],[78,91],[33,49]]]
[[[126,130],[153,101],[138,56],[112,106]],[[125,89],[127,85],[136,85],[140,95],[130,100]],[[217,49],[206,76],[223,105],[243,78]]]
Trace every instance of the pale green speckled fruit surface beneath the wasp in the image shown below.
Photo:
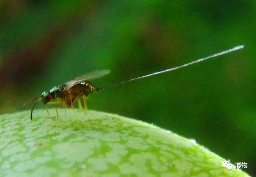
[[[76,115],[74,114],[76,112]],[[0,115],[0,176],[248,176],[171,131],[110,113],[44,109]],[[156,117],[157,118],[157,117]],[[45,120],[45,121],[44,121]]]

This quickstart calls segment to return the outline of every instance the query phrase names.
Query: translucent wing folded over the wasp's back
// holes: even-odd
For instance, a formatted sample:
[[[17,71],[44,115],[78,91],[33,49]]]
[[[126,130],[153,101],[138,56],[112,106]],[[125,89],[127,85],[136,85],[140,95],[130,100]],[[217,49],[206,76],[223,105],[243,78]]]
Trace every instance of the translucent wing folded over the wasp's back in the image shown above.
[[[108,74],[110,74],[110,70],[96,70],[93,72],[83,74],[81,76],[76,77],[74,80],[70,80],[66,82],[65,83],[66,87],[64,88],[64,90],[68,90],[72,88],[72,86],[79,84],[80,82],[94,80],[94,79],[106,76]]]

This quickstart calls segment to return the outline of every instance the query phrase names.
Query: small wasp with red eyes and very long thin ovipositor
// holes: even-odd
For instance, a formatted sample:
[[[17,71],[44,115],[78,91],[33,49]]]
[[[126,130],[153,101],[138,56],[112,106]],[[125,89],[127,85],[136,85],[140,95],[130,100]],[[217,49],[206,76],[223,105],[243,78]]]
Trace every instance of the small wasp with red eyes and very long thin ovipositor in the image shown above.
[[[106,86],[106,87],[103,87],[103,88],[94,87],[91,84],[90,81],[94,80],[94,79],[97,79],[97,78],[100,78],[100,77],[103,77],[103,76],[106,76],[107,74],[110,73],[110,70],[97,70],[97,71],[93,71],[93,72],[84,74],[82,76],[79,76],[79,77],[75,78],[74,80],[70,80],[70,81],[66,82],[63,85],[54,86],[49,91],[42,92],[41,97],[39,99],[37,99],[36,102],[34,103],[34,105],[32,106],[31,113],[30,113],[30,119],[32,120],[33,110],[34,110],[35,105],[38,102],[42,102],[45,105],[45,107],[46,107],[46,104],[50,104],[50,103],[57,104],[56,114],[57,114],[57,120],[58,120],[58,107],[60,107],[60,105],[64,105],[65,108],[66,107],[73,107],[74,103],[78,102],[78,106],[80,108],[82,108],[81,101],[80,101],[80,98],[82,97],[83,102],[84,102],[84,108],[83,109],[87,110],[86,99],[88,98],[88,96],[91,93],[101,91],[101,90],[106,89],[106,88],[114,87],[114,86],[117,86],[117,85],[120,85],[120,84],[123,84],[123,83],[126,83],[126,82],[131,82],[131,81],[134,81],[134,80],[147,78],[147,77],[154,76],[154,75],[157,75],[157,74],[162,74],[162,73],[165,73],[165,72],[170,72],[170,71],[173,71],[173,70],[177,70],[179,68],[184,68],[186,66],[196,64],[196,63],[202,62],[204,60],[208,60],[210,58],[221,56],[221,55],[224,55],[224,54],[236,51],[236,50],[240,50],[242,48],[244,48],[243,45],[236,46],[236,47],[231,48],[229,50],[225,50],[225,51],[216,53],[214,55],[207,56],[205,58],[200,58],[198,60],[195,60],[193,62],[189,62],[187,64],[183,64],[183,65],[180,65],[180,66],[177,66],[177,67],[174,67],[174,68],[169,68],[169,69],[166,69],[166,70],[154,72],[154,73],[147,74],[147,75],[144,75],[144,76],[140,76],[140,77],[137,77],[137,78],[132,78],[130,80],[122,81],[122,82],[119,82],[117,84],[113,84],[113,85]],[[55,102],[50,102],[53,99],[55,100]],[[46,111],[49,115],[50,113],[49,113],[47,107],[46,107]]]

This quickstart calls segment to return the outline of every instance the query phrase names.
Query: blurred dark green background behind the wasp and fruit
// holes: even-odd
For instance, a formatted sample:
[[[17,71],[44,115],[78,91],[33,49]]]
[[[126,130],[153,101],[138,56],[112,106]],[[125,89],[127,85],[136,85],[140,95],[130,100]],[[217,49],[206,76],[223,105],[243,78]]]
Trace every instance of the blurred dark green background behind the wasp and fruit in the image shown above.
[[[255,12],[253,0],[0,0],[0,113],[92,70],[112,71],[92,82],[103,87],[244,44],[87,103],[195,139],[256,176]]]

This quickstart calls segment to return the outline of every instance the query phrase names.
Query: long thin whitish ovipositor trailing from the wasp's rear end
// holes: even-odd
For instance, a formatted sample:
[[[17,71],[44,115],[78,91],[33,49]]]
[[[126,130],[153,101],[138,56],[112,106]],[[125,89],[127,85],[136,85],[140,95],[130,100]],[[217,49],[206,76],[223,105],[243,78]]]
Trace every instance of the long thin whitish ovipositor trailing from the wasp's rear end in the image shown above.
[[[202,62],[204,60],[208,60],[210,58],[215,58],[217,56],[221,56],[221,55],[224,55],[224,54],[228,54],[230,52],[234,52],[236,50],[240,50],[244,48],[244,45],[240,45],[240,46],[236,46],[234,48],[231,48],[231,49],[228,49],[228,50],[224,50],[222,52],[219,52],[219,53],[216,53],[216,54],[213,54],[211,56],[207,56],[205,58],[200,58],[198,60],[195,60],[193,62],[189,62],[187,64],[183,64],[183,65],[180,65],[180,66],[176,66],[174,68],[168,68],[166,70],[162,70],[162,71],[158,71],[158,72],[154,72],[154,73],[151,73],[151,74],[147,74],[147,75],[144,75],[144,76],[140,76],[140,77],[137,77],[137,78],[132,78],[132,79],[129,79],[129,80],[126,80],[126,81],[122,81],[122,82],[119,82],[119,83],[116,83],[116,84],[113,84],[113,85],[110,85],[110,86],[106,86],[106,87],[103,87],[103,88],[100,88],[99,90],[103,90],[103,89],[106,89],[106,88],[110,88],[110,87],[114,87],[114,86],[118,86],[120,84],[123,84],[123,83],[126,83],[126,82],[131,82],[131,81],[134,81],[134,80],[138,80],[138,79],[142,79],[142,78],[148,78],[150,76],[154,76],[154,75],[158,75],[158,74],[162,74],[162,73],[166,73],[166,72],[170,72],[170,71],[173,71],[173,70],[178,70],[180,68],[184,68],[186,66],[189,66],[189,65],[192,65],[192,64],[196,64],[196,63],[199,63],[199,62]]]

